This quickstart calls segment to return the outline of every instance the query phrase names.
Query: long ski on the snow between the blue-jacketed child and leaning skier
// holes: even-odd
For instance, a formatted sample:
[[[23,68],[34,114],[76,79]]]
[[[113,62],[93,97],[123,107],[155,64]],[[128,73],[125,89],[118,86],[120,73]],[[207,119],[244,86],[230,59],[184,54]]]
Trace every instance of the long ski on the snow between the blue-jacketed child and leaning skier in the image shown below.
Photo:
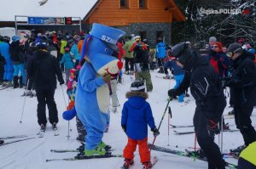
[[[165,148],[165,147],[160,147],[160,146],[153,145],[153,144],[148,144],[148,148],[156,150],[156,151],[164,152],[164,153],[170,153],[170,154],[173,154],[173,155],[181,155],[181,156],[193,158],[195,160],[207,161],[206,158],[202,158],[200,156],[196,156],[195,154],[189,153],[189,150],[180,151],[180,150],[168,149],[168,148]],[[235,164],[231,164],[231,163],[228,163],[228,162],[226,162],[226,165],[228,167],[230,167],[230,168],[234,168],[234,169],[237,168],[237,166]]]

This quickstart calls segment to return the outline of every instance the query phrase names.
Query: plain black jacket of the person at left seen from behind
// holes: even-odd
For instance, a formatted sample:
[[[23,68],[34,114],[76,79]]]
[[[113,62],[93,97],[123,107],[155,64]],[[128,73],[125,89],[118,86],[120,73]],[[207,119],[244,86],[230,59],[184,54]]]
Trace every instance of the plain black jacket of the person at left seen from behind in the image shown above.
[[[57,59],[44,50],[36,51],[28,65],[27,76],[36,90],[55,89],[56,76],[60,84],[64,83]]]

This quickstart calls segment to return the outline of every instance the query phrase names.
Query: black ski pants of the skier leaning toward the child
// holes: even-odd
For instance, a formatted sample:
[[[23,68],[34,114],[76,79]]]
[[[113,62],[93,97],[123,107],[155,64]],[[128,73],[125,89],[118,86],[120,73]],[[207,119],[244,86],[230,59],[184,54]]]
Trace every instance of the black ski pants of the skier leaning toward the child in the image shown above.
[[[208,169],[224,169],[225,162],[218,145],[214,143],[214,135],[207,130],[207,119],[204,112],[196,108],[193,121],[197,142],[207,156]]]

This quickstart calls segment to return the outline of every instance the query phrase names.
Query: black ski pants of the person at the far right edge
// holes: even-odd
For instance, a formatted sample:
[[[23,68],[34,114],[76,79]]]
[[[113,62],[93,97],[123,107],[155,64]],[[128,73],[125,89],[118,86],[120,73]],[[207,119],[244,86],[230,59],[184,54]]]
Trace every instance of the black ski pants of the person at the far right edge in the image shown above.
[[[241,104],[234,104],[236,128],[240,130],[246,145],[252,144],[254,141],[256,141],[256,132],[252,126],[252,121],[250,118],[252,113],[253,105],[243,106]]]

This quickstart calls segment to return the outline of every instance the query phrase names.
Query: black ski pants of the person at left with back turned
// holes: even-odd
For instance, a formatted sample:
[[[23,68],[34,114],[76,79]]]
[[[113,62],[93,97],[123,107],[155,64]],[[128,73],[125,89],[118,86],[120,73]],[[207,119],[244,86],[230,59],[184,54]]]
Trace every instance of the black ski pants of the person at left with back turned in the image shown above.
[[[46,125],[46,112],[45,105],[47,104],[49,110],[49,122],[53,124],[57,123],[58,111],[55,104],[55,89],[36,89],[37,99],[38,99],[38,124]]]

